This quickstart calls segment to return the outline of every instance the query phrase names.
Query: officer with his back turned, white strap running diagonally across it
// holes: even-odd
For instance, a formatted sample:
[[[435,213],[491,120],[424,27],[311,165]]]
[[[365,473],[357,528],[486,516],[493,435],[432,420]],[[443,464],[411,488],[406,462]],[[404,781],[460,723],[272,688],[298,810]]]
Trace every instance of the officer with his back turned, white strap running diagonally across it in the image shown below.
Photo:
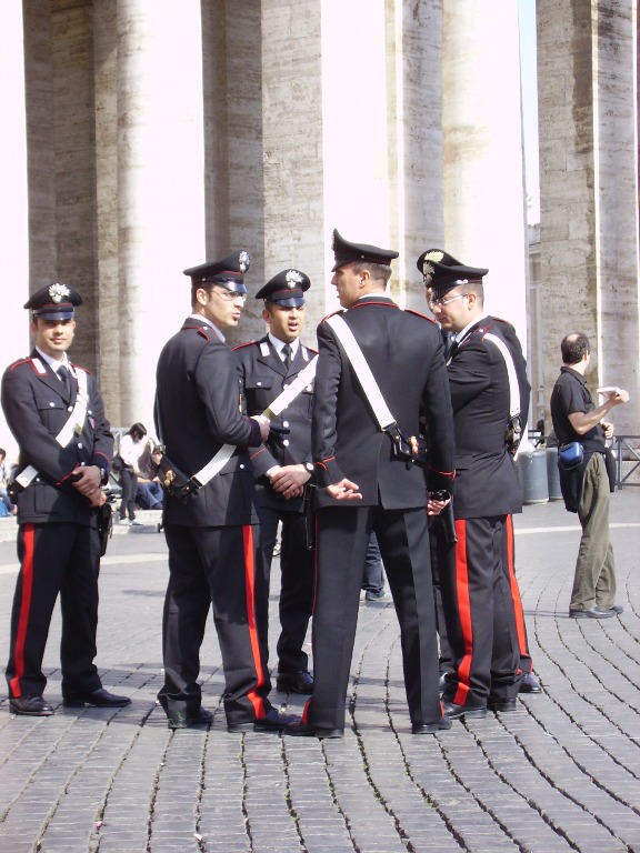
[[[428,488],[450,489],[451,401],[437,325],[401,311],[386,294],[398,252],[348,242],[333,232],[331,283],[400,433],[411,446],[424,412]],[[376,532],[400,623],[404,685],[414,734],[449,729],[438,691],[438,648],[423,471],[398,454],[331,325],[318,327],[312,448],[318,480],[313,695],[294,735],[340,737],[370,533]],[[404,448],[404,445],[402,445]],[[440,502],[444,505],[447,500]],[[440,509],[440,506],[438,508]],[[432,510],[433,511],[433,510]]]

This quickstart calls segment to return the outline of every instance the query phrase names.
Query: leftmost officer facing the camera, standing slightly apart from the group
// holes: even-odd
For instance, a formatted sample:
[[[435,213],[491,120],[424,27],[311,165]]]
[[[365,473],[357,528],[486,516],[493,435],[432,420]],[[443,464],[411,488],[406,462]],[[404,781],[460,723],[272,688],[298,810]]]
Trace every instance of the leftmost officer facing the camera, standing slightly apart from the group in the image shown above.
[[[108,693],[93,663],[98,626],[100,508],[113,436],[96,378],[67,357],[82,299],[67,284],[34,293],[34,349],[2,378],[2,410],[20,448],[18,556],[7,664],[9,710],[48,716],[42,658],[60,593],[60,661],[64,705],[126,705]]]

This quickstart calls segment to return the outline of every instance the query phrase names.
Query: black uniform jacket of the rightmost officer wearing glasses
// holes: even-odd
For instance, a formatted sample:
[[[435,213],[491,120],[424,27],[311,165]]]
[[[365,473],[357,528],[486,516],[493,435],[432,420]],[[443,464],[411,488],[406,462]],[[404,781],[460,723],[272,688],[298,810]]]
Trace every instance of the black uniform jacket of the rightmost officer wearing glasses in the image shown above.
[[[504,340],[501,325],[493,318],[482,318],[453,351],[448,364],[456,425],[457,519],[522,511],[513,458],[504,441],[509,377],[500,350],[484,339],[490,332]],[[521,368],[517,373],[521,373]]]

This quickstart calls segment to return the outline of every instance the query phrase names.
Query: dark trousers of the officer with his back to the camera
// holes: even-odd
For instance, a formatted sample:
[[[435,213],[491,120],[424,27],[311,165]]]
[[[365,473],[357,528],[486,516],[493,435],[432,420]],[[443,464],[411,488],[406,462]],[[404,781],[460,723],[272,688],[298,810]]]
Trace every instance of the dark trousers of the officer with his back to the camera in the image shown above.
[[[344,699],[371,530],[378,538],[400,623],[411,722],[430,723],[440,719],[438,645],[424,508],[328,508],[317,513],[317,526],[314,686],[306,719],[319,727],[344,726]]]

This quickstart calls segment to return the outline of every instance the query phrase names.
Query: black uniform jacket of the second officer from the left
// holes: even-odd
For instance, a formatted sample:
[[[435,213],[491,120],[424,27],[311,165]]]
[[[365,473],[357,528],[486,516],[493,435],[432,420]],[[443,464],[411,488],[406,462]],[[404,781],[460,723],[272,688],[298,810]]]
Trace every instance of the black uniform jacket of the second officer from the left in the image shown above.
[[[253,473],[247,448],[260,428],[241,413],[236,357],[204,322],[187,318],[158,360],[156,429],[167,456],[187,476],[222,444],[238,445],[224,468],[187,504],[167,495],[164,522],[189,526],[257,523]]]

